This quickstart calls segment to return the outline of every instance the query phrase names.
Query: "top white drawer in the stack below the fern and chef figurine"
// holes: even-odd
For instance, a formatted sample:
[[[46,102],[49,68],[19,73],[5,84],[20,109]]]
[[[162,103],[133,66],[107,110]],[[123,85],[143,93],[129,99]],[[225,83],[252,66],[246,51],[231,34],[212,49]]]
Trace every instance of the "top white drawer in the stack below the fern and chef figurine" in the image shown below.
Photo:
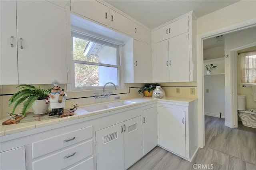
[[[32,143],[32,158],[37,158],[77,142],[92,138],[92,126]]]

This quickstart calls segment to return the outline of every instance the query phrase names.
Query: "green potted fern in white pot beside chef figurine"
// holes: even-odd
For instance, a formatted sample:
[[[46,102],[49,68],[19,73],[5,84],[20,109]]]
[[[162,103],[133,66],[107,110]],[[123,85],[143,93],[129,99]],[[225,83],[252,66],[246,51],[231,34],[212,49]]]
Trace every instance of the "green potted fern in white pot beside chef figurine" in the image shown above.
[[[51,92],[51,89],[41,89],[33,85],[18,85],[17,87],[20,87],[20,90],[9,99],[9,107],[14,104],[13,114],[16,107],[22,103],[22,117],[25,116],[30,107],[36,115],[48,113],[49,104],[46,104],[46,96]]]

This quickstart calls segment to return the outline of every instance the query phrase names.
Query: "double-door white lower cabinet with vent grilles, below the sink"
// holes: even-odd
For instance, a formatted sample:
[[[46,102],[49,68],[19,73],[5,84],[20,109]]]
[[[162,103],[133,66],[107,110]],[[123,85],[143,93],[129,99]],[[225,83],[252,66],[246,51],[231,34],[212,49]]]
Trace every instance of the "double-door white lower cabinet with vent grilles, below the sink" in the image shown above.
[[[141,157],[140,116],[96,131],[97,170],[127,169]]]

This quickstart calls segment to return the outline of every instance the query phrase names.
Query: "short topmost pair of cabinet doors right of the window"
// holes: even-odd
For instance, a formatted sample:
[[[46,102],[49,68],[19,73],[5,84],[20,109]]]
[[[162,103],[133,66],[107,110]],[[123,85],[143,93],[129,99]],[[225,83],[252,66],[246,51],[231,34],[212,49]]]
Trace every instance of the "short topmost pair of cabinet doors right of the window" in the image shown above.
[[[188,32],[188,16],[153,32],[154,43]]]

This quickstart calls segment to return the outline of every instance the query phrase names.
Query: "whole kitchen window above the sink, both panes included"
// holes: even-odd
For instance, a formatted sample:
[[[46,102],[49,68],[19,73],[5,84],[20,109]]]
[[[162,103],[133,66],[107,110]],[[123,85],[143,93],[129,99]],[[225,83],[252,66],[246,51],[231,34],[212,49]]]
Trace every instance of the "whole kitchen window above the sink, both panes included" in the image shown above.
[[[73,90],[101,89],[107,82],[120,86],[119,45],[72,32],[72,47]]]

